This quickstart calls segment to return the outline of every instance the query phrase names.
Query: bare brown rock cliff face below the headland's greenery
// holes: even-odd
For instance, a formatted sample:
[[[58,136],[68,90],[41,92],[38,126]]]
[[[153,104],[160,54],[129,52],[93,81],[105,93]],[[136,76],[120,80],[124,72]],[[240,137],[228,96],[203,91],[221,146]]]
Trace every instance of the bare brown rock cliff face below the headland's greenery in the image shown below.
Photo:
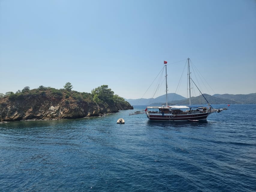
[[[0,99],[0,121],[75,119],[133,109],[125,104],[101,104],[70,98],[25,95],[22,98]]]

